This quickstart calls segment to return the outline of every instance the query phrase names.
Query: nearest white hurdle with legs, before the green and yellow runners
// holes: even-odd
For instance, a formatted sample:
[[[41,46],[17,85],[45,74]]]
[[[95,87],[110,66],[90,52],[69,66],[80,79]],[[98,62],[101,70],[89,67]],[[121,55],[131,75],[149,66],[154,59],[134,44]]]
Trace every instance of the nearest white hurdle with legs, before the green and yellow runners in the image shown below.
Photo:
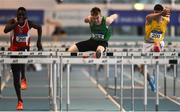
[[[121,101],[120,105],[123,106],[123,65],[124,64],[144,64],[144,70],[145,70],[145,76],[144,76],[144,110],[146,111],[147,109],[147,64],[154,64],[156,65],[156,70],[157,70],[157,75],[156,75],[156,81],[158,80],[158,75],[159,75],[159,64],[169,64],[169,61],[177,61],[179,64],[179,59],[178,60],[164,60],[164,59],[136,59],[136,60],[131,60],[131,59],[125,59],[125,58],[120,58],[120,59],[82,59],[82,58],[63,58],[62,63],[63,64],[121,64]],[[68,68],[69,71],[69,68]],[[67,77],[70,76],[70,72],[67,72]],[[69,79],[69,78],[68,78]],[[69,83],[69,81],[67,81]],[[157,88],[159,87],[158,81],[157,81]],[[69,91],[69,84],[67,86],[67,90]],[[70,96],[69,92],[67,94],[67,105],[70,104]],[[158,110],[159,106],[159,89],[157,89],[156,92],[156,105],[155,108]],[[122,109],[121,109],[122,110]]]

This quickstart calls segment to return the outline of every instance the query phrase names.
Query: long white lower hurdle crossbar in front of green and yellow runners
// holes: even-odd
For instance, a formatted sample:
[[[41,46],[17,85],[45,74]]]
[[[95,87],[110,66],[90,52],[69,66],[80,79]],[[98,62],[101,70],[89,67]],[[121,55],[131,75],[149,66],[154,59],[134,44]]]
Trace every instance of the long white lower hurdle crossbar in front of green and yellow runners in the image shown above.
[[[63,58],[63,64],[179,64],[180,59],[126,59],[126,58],[101,58],[101,59],[94,59],[94,58]]]

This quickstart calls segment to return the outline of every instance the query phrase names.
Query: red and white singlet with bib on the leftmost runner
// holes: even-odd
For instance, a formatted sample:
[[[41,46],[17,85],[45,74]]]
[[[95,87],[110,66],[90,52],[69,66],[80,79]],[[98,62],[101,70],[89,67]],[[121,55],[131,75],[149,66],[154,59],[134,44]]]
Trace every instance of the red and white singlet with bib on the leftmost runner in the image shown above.
[[[17,25],[14,30],[11,31],[11,51],[18,51],[23,48],[29,48],[30,35],[28,34],[30,28],[28,20],[25,20],[24,25]]]

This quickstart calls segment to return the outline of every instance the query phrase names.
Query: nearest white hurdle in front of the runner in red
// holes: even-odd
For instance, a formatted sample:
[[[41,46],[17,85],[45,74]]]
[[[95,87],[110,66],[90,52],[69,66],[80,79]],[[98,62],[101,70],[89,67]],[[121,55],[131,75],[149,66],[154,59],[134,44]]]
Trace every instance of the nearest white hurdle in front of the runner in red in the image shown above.
[[[27,52],[26,52],[27,53]],[[12,53],[13,54],[13,53]],[[16,53],[15,53],[16,54]],[[25,54],[25,53],[24,53]],[[49,93],[50,99],[52,99],[50,103],[50,107],[52,107],[52,110],[56,111],[57,106],[57,74],[56,73],[56,65],[60,60],[57,58],[0,58],[1,64],[52,64],[51,68],[53,68],[54,72],[50,73],[50,82],[52,86],[49,87],[49,90],[51,93]]]

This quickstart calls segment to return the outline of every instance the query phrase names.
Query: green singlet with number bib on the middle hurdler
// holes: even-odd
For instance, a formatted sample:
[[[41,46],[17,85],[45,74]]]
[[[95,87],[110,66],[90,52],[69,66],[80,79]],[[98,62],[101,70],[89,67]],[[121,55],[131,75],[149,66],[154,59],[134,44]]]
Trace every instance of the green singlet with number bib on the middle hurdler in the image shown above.
[[[110,28],[106,25],[106,17],[102,17],[100,25],[90,23],[91,38],[95,40],[108,41],[111,36]]]

